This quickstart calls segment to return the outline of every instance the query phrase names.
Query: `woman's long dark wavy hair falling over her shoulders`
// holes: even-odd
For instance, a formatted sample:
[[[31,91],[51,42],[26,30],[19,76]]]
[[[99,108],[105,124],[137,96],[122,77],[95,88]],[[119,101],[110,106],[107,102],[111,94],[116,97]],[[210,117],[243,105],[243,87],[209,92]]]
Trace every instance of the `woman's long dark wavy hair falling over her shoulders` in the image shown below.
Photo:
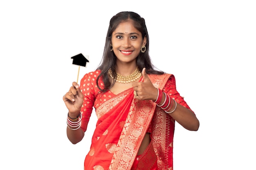
[[[97,77],[97,87],[101,90],[101,92],[106,92],[108,89],[110,89],[114,84],[115,81],[110,81],[108,76],[108,70],[111,68],[111,70],[115,70],[116,60],[117,57],[115,53],[111,50],[110,44],[112,39],[112,33],[115,31],[117,26],[121,22],[126,22],[128,20],[133,20],[134,27],[141,32],[142,38],[146,37],[146,51],[140,52],[137,60],[137,67],[139,68],[139,71],[142,72],[143,68],[146,68],[147,74],[164,74],[164,72],[158,70],[155,68],[155,66],[151,63],[151,59],[149,56],[149,37],[148,37],[148,30],[145,24],[145,20],[143,17],[141,17],[139,14],[131,11],[123,11],[119,12],[116,15],[114,15],[109,23],[108,27],[108,33],[106,36],[106,42],[105,47],[103,51],[103,57],[101,59],[101,62],[99,64],[99,67],[96,70],[101,70],[101,73]],[[98,84],[99,78],[102,76],[104,86],[101,88]],[[117,74],[115,71],[113,71],[114,80],[117,77]],[[111,83],[112,82],[112,83]]]

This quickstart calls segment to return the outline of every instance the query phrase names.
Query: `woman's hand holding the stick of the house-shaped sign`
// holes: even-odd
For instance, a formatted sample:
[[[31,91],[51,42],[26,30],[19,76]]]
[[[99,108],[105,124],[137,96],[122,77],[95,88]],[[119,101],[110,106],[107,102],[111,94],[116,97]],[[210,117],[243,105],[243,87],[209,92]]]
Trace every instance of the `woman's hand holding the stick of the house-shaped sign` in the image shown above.
[[[77,118],[83,105],[83,93],[76,82],[72,83],[70,90],[63,96],[70,118]]]

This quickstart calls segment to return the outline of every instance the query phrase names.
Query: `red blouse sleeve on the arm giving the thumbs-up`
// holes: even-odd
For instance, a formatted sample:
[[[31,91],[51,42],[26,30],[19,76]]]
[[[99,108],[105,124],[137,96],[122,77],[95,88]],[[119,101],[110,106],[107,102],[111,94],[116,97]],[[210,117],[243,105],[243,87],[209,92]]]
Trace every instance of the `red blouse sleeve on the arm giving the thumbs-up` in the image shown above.
[[[185,102],[184,97],[180,96],[180,93],[176,90],[176,82],[174,75],[171,75],[169,77],[166,85],[164,86],[163,92],[165,92],[167,95],[173,98],[180,105],[190,109],[189,105]]]

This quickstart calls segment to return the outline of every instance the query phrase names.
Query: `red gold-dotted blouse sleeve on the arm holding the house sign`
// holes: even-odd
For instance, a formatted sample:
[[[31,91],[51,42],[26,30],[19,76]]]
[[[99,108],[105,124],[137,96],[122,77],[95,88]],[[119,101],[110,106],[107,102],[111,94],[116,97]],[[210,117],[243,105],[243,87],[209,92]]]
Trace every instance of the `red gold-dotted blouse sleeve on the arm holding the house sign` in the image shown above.
[[[93,83],[91,82],[91,75],[85,74],[80,83],[81,92],[84,95],[83,105],[81,107],[82,121],[81,129],[85,132],[92,114],[92,109],[95,101],[95,94],[93,89]]]

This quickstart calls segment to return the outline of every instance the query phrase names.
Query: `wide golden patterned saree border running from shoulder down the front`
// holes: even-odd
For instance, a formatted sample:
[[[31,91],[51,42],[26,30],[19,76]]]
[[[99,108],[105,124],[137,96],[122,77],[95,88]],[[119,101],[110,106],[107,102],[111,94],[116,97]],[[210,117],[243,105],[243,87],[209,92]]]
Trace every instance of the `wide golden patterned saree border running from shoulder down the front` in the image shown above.
[[[150,81],[159,89],[164,88],[170,76],[171,74],[148,74]],[[137,100],[135,98],[132,100],[130,111],[111,160],[109,170],[128,170],[132,168],[139,146],[146,134],[155,110],[156,103],[151,100]]]

